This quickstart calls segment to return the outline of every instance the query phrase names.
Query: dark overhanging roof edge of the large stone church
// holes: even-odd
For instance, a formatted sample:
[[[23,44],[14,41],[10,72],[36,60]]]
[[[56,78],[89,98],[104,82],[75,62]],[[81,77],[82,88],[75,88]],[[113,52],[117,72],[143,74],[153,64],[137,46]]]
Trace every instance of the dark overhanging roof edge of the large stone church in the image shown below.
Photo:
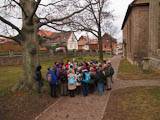
[[[123,20],[123,24],[122,24],[121,30],[123,30],[123,28],[125,26],[125,23],[126,23],[129,15],[130,15],[133,7],[149,6],[149,2],[144,2],[144,3],[136,3],[136,2],[137,2],[137,0],[134,0],[133,2],[131,2],[129,4],[127,12],[126,12],[126,15],[125,15],[125,18]]]

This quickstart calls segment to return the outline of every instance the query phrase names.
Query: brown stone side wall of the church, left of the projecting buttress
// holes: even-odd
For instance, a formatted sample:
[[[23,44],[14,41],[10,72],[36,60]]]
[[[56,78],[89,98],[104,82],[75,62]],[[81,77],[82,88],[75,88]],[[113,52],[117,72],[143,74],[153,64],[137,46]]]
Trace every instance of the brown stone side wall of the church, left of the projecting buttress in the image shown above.
[[[126,42],[125,56],[133,64],[141,64],[148,57],[149,7],[137,6],[132,11],[123,28]]]

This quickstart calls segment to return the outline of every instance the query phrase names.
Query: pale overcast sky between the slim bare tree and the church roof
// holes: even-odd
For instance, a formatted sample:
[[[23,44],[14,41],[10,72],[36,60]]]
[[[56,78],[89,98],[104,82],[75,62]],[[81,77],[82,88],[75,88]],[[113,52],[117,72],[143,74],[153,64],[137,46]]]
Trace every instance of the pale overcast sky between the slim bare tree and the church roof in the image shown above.
[[[0,0],[0,5],[2,5],[2,2],[4,0]],[[43,0],[46,1],[46,0]],[[114,21],[114,25],[118,27],[119,31],[121,29],[128,5],[133,0],[110,0],[110,8],[111,10],[114,10],[114,15],[116,16],[116,20]],[[118,41],[122,41],[122,32],[120,31],[119,34],[116,36]]]

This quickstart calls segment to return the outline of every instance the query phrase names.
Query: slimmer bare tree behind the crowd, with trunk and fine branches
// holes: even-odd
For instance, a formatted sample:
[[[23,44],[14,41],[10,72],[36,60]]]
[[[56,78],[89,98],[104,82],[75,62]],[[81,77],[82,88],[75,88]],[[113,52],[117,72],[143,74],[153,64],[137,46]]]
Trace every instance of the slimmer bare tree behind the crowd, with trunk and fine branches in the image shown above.
[[[84,1],[91,5],[80,14],[76,14],[67,19],[68,24],[66,24],[66,26],[69,25],[72,31],[86,31],[96,36],[99,42],[99,60],[103,63],[102,35],[107,32],[108,25],[111,24],[113,18],[112,12],[108,9],[109,0]],[[77,7],[84,8],[83,6],[84,4],[79,4]],[[61,28],[57,28],[57,30],[58,29],[61,30]]]

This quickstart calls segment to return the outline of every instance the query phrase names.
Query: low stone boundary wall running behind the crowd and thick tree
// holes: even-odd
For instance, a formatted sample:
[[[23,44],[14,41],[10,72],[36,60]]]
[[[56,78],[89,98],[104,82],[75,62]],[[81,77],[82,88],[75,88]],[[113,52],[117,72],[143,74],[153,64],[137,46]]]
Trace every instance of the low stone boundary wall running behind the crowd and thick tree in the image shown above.
[[[78,56],[97,56],[98,52],[96,51],[72,51],[72,52],[61,52],[61,53],[41,53],[40,54],[40,61],[49,61],[49,60],[57,60],[57,59],[64,59],[70,57],[78,57]],[[0,57],[0,66],[10,66],[10,65],[21,65],[22,64],[22,56],[1,56]]]

